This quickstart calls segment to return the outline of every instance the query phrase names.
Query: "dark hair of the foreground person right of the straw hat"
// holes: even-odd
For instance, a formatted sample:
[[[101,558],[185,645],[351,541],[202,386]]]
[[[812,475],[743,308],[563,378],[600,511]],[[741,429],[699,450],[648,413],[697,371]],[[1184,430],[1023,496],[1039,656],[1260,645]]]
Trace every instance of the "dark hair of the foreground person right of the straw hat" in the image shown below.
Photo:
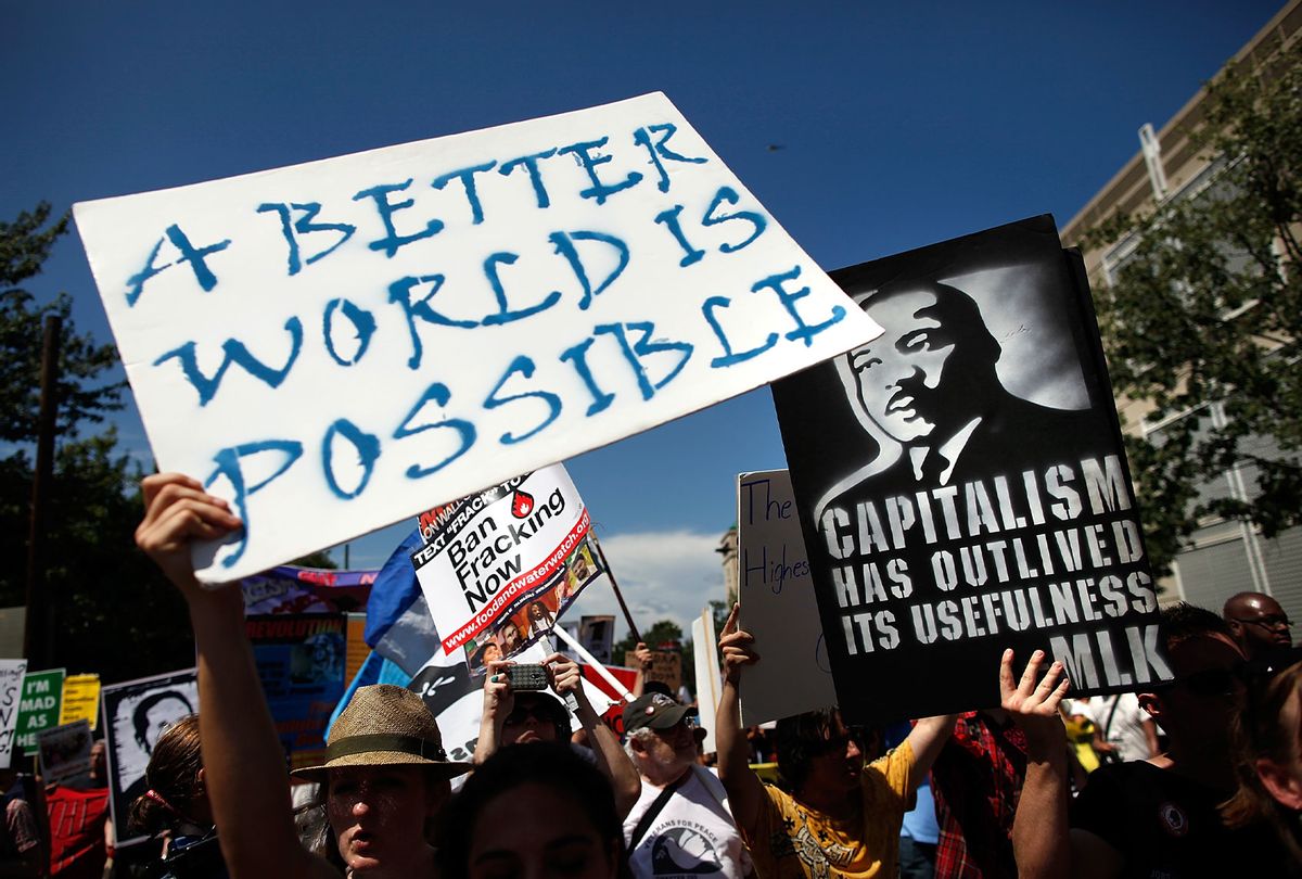
[[[630,876],[611,783],[568,744],[530,742],[504,747],[484,760],[443,810],[436,831],[441,879],[469,875],[479,814],[499,794],[526,784],[543,785],[570,801],[574,814],[586,818],[602,843],[617,852],[617,875]]]

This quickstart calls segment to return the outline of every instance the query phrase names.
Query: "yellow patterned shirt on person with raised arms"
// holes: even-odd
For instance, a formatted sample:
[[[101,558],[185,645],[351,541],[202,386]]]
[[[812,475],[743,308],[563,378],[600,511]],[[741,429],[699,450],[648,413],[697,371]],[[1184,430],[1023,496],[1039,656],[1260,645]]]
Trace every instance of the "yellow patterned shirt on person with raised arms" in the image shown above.
[[[870,879],[897,874],[900,824],[913,807],[913,747],[904,742],[859,776],[859,807],[836,820],[764,785],[754,835],[742,830],[759,879]]]

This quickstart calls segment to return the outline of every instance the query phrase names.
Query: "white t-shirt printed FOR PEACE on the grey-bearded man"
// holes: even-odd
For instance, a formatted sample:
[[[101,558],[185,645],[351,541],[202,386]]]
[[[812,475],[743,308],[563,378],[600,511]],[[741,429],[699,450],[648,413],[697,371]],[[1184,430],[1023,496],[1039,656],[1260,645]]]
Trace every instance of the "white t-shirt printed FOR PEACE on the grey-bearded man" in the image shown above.
[[[642,796],[624,819],[625,843],[660,790],[642,783]],[[629,866],[637,879],[750,876],[750,853],[737,832],[723,783],[693,766],[691,777],[678,785],[629,854]]]

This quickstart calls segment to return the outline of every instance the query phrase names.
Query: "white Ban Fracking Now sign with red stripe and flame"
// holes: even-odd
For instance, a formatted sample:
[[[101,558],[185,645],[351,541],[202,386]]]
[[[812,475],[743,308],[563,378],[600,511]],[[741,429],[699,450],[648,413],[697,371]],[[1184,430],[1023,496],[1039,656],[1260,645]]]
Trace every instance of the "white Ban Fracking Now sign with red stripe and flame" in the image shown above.
[[[421,531],[417,579],[443,650],[465,647],[471,671],[551,632],[600,573],[591,518],[560,465],[448,504]]]

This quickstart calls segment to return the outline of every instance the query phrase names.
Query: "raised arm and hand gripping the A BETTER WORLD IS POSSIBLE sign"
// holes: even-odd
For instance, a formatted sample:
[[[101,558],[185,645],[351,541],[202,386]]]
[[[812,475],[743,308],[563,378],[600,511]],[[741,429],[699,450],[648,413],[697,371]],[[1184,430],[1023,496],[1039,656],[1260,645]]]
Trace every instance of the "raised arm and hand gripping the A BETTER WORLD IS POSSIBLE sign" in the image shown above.
[[[135,543],[185,596],[199,662],[199,736],[208,802],[232,879],[336,876],[298,844],[285,758],[262,695],[238,589],[203,589],[190,543],[241,527],[227,503],[189,477],[146,477]]]

